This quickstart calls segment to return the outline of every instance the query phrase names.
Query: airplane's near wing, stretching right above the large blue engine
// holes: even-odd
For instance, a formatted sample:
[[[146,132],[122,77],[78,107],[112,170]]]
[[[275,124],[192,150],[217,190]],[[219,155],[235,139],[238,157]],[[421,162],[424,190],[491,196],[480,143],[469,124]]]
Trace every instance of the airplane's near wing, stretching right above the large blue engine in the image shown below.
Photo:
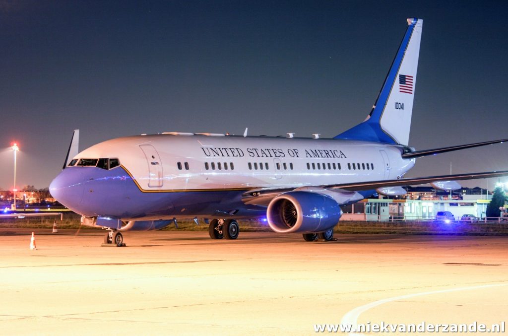
[[[318,188],[323,188],[325,190],[335,191],[337,193],[342,194],[349,194],[351,192],[368,191],[387,187],[417,186],[439,181],[467,180],[467,179],[491,178],[500,176],[508,176],[508,170],[469,173],[469,174],[408,177],[378,181],[364,181],[354,183],[343,183],[337,185],[318,186]],[[249,190],[248,192],[245,192],[242,195],[242,201],[245,204],[267,206],[268,203],[270,203],[270,201],[274,197],[285,192],[293,191],[295,189],[296,188],[280,188],[280,189],[266,188],[266,189]]]

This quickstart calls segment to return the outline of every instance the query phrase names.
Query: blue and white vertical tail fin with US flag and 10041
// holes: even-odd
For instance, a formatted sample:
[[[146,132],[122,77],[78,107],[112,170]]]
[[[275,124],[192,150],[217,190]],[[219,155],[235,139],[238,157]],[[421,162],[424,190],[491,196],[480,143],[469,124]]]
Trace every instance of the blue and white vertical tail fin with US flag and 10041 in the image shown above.
[[[423,20],[409,18],[407,23],[409,26],[367,119],[335,139],[409,143]]]

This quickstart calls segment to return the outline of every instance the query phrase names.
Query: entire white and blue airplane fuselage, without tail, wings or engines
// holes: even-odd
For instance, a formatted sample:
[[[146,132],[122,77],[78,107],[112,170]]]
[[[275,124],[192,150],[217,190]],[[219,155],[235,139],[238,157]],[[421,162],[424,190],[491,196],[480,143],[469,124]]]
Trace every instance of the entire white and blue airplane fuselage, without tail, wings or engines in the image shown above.
[[[175,134],[91,146],[52,190],[86,217],[256,218],[266,207],[244,204],[246,191],[394,179],[415,164],[401,158],[402,146],[378,142]],[[100,168],[99,159],[118,165]]]

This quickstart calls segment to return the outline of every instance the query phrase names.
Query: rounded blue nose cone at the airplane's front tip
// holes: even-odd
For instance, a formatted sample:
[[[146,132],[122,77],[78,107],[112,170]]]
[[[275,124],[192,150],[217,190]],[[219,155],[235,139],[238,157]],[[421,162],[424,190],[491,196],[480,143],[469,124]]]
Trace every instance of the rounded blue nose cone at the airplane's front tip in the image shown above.
[[[51,196],[71,210],[78,209],[83,199],[83,173],[79,168],[63,169],[49,185]]]

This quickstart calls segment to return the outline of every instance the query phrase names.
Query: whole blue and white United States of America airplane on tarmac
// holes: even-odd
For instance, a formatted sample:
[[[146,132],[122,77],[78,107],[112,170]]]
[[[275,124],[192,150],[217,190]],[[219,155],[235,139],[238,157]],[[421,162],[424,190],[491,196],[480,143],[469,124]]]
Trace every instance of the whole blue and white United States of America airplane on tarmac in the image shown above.
[[[105,243],[121,231],[158,230],[178,219],[204,220],[213,239],[236,239],[239,219],[266,218],[279,233],[333,240],[341,206],[402,186],[459,189],[457,180],[508,171],[404,178],[416,158],[508,139],[427,150],[408,146],[423,20],[407,29],[367,118],[331,139],[164,132],[120,137],[78,153],[74,133],[51,195],[103,227]]]

